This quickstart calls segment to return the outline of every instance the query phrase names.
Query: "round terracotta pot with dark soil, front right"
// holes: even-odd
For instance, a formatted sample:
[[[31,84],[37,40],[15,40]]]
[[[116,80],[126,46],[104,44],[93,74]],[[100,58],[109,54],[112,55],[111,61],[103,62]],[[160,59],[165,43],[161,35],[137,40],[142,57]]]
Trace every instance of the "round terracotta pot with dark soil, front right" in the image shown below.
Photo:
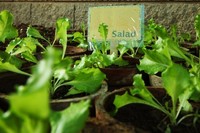
[[[147,87],[149,91],[161,102],[164,104],[166,99],[169,97],[166,95],[164,89],[160,87]],[[96,117],[99,120],[103,121],[118,121],[126,124],[127,126],[132,126],[135,129],[136,133],[164,133],[166,128],[166,123],[169,121],[166,119],[166,115],[161,111],[152,108],[143,104],[128,104],[120,108],[114,116],[109,112],[112,112],[114,109],[113,101],[115,95],[122,95],[125,91],[129,91],[129,87],[124,87],[112,92],[107,92],[105,95],[102,95],[96,101]],[[198,104],[192,104],[194,108],[198,109],[200,106]],[[192,119],[186,120],[188,124],[192,122]],[[191,127],[183,124],[178,126],[171,127],[173,133],[198,133],[200,127]]]

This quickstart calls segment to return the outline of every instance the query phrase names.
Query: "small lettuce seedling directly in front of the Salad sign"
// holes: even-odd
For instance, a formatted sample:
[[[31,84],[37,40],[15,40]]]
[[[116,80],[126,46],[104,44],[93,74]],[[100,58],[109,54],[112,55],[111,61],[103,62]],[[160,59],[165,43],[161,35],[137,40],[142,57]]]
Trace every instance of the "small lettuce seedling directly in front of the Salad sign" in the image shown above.
[[[127,54],[131,57],[134,57],[135,51],[133,49],[134,43],[128,43],[125,41],[119,42],[117,46],[118,53],[109,53],[110,42],[107,40],[108,36],[108,25],[102,23],[98,28],[99,34],[102,37],[103,41],[96,41],[93,39],[92,48],[93,52],[91,55],[85,55],[81,58],[80,61],[76,62],[76,67],[96,67],[96,68],[105,68],[112,65],[115,66],[126,66],[128,62],[124,60],[123,55]],[[129,51],[131,54],[129,54]]]

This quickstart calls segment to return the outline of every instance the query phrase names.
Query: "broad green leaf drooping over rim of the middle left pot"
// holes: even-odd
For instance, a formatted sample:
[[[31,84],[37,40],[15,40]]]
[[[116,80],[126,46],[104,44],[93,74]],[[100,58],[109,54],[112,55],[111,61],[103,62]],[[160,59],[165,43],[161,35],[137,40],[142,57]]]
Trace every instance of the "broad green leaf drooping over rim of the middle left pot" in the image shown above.
[[[67,84],[74,86],[77,90],[94,93],[100,88],[105,77],[98,68],[85,68],[77,70],[75,78]]]

